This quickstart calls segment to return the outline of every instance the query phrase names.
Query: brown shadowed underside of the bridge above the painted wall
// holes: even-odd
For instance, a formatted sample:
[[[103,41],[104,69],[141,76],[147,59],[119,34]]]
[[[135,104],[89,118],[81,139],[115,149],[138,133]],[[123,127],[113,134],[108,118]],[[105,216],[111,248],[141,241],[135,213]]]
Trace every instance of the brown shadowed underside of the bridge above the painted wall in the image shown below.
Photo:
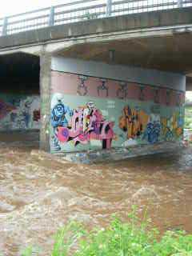
[[[186,90],[192,88],[192,32],[87,42],[59,50],[58,55],[186,74]]]

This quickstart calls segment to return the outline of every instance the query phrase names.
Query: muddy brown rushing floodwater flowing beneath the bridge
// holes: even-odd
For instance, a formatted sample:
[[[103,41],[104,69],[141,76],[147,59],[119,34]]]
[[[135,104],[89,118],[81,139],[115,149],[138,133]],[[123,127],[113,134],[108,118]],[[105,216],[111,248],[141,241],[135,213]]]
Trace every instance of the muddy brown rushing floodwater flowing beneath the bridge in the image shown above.
[[[113,213],[126,219],[133,204],[141,212],[147,207],[160,230],[192,231],[190,148],[85,166],[43,153],[36,143],[6,140],[0,143],[3,255],[20,255],[29,244],[49,255],[53,234],[67,221],[104,226]]]

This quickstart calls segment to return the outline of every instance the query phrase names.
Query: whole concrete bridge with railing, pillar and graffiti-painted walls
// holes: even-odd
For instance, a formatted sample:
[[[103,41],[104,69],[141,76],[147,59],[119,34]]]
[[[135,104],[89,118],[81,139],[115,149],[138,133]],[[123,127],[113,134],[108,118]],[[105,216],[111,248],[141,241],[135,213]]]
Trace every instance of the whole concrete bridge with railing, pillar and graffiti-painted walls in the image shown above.
[[[192,0],[79,1],[0,24],[0,130],[40,129],[43,150],[73,159],[182,138]]]

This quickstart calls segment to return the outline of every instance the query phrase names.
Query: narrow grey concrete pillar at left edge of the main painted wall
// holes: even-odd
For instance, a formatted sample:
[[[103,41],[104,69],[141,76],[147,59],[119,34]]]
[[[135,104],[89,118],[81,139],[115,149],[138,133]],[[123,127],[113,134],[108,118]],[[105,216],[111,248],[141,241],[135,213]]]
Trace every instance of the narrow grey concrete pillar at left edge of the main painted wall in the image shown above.
[[[51,55],[40,55],[41,130],[40,149],[50,152]]]

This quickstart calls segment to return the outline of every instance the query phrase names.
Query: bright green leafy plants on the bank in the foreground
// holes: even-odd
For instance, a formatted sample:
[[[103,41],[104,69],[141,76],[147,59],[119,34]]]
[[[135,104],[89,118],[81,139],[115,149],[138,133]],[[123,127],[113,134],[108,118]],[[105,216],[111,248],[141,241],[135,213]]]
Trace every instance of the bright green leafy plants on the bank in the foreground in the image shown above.
[[[192,234],[182,230],[166,231],[160,235],[150,228],[146,218],[142,222],[135,214],[130,221],[113,217],[106,229],[86,231],[82,225],[70,222],[55,235],[51,256],[191,256]],[[22,256],[31,256],[30,250]]]

